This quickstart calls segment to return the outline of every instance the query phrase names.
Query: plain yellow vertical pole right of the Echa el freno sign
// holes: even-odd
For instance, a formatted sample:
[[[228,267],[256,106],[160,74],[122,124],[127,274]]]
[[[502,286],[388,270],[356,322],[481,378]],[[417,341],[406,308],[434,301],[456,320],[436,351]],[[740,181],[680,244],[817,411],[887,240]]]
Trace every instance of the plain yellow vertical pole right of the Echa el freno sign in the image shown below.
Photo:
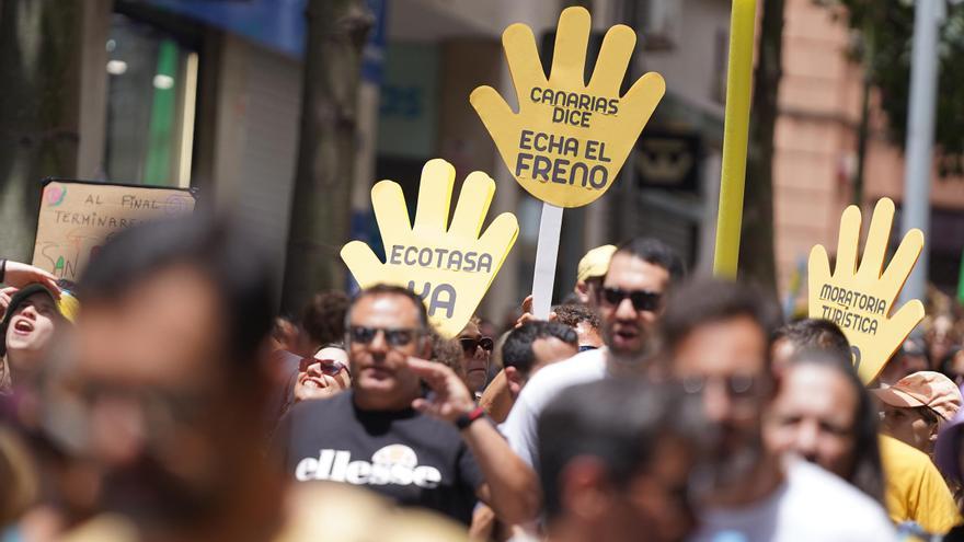
[[[726,74],[726,119],[723,128],[723,172],[720,178],[716,252],[713,258],[713,275],[723,278],[736,278],[739,258],[756,15],[756,0],[733,0],[730,69]],[[760,257],[770,255],[761,254]]]

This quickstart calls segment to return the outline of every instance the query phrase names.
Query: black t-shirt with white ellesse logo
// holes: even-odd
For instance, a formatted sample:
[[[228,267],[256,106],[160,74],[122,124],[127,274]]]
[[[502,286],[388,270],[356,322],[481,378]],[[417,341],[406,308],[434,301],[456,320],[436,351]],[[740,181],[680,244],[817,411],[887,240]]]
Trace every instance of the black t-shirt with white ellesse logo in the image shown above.
[[[353,395],[302,401],[288,412],[274,439],[285,470],[300,482],[367,486],[469,524],[484,478],[455,426],[412,408],[360,411]]]

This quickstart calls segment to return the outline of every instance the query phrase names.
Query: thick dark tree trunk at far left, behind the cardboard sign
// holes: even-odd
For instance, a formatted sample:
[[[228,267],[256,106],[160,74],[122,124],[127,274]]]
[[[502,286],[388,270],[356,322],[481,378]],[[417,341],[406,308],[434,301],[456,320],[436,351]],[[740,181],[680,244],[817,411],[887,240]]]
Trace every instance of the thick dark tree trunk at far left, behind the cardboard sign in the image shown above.
[[[41,180],[76,175],[82,5],[0,1],[0,257],[30,260]]]

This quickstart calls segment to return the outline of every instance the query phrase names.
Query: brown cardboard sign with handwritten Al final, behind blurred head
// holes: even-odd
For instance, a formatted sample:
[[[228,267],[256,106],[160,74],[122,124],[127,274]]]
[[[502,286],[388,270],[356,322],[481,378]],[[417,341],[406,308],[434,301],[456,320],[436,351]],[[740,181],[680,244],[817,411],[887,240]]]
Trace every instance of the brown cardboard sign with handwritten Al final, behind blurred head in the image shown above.
[[[33,265],[77,280],[113,233],[138,222],[194,210],[181,188],[49,180],[41,197]]]

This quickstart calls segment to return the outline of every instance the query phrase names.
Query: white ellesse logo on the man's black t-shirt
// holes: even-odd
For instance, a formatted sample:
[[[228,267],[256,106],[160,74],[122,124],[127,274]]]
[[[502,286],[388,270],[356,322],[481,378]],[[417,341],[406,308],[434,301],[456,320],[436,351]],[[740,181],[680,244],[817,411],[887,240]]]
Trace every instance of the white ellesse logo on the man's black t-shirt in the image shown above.
[[[371,462],[352,461],[346,450],[319,450],[318,458],[305,458],[295,469],[301,482],[330,480],[355,485],[416,485],[427,489],[438,486],[441,472],[418,465],[415,451],[403,445],[389,445],[371,455]]]

